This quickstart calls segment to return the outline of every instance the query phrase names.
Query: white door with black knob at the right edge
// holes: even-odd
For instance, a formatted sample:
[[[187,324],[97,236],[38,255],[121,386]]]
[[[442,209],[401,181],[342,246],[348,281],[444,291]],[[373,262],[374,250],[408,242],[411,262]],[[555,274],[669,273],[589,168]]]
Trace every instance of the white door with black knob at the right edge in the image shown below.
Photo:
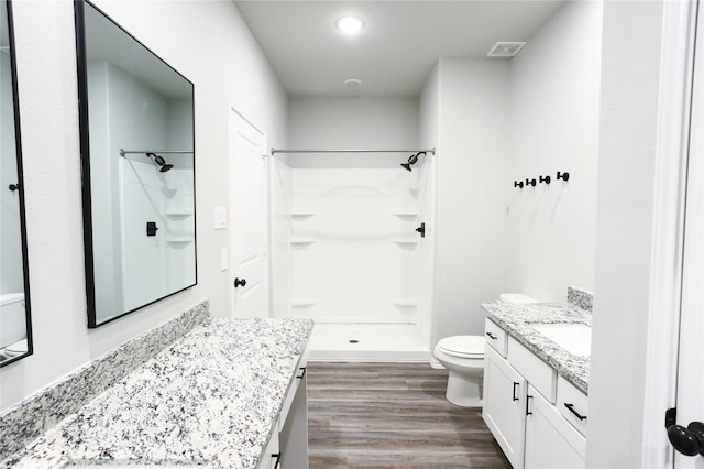
[[[704,422],[704,12],[697,21],[684,226],[684,268],[678,363],[676,421]],[[675,467],[704,468],[704,456],[675,452]]]

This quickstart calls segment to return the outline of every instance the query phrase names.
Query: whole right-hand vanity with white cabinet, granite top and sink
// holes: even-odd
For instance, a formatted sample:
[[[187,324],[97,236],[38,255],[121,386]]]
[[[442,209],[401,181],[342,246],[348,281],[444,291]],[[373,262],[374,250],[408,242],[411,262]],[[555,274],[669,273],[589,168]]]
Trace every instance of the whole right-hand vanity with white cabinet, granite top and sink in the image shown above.
[[[584,467],[592,315],[569,304],[482,308],[482,417],[512,466]]]

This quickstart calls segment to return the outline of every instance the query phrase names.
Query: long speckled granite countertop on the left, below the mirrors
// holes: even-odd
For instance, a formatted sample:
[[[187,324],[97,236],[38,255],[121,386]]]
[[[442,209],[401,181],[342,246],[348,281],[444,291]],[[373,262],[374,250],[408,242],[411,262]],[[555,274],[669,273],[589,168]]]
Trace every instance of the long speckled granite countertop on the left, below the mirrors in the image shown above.
[[[307,319],[212,319],[4,463],[254,468],[311,330]]]

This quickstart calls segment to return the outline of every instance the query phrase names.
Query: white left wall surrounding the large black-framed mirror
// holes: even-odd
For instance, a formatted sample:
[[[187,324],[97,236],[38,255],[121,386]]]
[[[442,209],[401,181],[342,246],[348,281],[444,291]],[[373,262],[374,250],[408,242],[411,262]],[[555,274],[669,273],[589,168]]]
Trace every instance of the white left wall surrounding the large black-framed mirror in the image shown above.
[[[198,285],[87,329],[73,2],[15,2],[34,355],[0,370],[1,408],[204,297],[228,315],[212,207],[228,200],[229,103],[286,145],[287,98],[232,2],[97,3],[195,84]]]

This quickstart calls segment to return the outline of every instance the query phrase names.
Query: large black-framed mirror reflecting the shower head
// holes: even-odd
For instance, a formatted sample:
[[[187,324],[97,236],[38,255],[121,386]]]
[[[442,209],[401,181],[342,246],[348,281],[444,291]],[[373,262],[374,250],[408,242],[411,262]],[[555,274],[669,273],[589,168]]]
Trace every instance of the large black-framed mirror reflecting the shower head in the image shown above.
[[[76,1],[88,327],[196,284],[194,85]]]

